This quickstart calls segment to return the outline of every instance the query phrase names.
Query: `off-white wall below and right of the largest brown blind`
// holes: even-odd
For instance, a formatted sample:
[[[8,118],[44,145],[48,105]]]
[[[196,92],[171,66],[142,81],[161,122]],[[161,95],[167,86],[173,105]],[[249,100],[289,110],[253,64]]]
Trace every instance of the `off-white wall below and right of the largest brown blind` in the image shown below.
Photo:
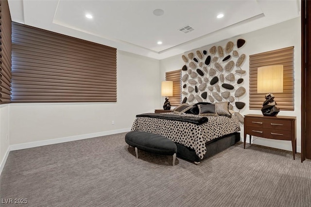
[[[159,107],[159,94],[159,61],[118,50],[117,103],[10,104],[10,144],[129,130],[136,114]]]

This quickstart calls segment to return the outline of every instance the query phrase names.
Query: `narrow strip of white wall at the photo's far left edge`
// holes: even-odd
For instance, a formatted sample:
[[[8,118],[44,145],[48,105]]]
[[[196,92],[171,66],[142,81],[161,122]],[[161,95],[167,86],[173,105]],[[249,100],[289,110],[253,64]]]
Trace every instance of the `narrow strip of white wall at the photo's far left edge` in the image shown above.
[[[9,152],[9,104],[0,105],[0,174]]]

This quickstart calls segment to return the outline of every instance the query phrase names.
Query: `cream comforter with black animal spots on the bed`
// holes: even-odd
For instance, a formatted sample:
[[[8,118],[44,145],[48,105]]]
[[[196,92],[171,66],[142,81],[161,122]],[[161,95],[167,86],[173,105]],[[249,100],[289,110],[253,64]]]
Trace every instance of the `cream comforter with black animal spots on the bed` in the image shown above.
[[[182,116],[195,117],[198,115],[183,114]],[[201,159],[207,152],[205,147],[207,141],[240,130],[240,123],[234,115],[231,118],[208,116],[207,123],[201,125],[182,121],[137,117],[131,129],[131,131],[149,132],[169,138],[174,142],[194,149],[196,155]]]

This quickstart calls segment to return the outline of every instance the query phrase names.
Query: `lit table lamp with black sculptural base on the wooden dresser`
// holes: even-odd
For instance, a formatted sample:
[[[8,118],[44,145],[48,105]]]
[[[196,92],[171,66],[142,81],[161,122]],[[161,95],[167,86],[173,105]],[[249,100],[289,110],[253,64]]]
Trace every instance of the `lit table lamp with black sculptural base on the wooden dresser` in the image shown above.
[[[261,112],[263,116],[276,116],[280,111],[272,93],[283,92],[283,65],[259,67],[257,70],[257,93],[267,93]]]

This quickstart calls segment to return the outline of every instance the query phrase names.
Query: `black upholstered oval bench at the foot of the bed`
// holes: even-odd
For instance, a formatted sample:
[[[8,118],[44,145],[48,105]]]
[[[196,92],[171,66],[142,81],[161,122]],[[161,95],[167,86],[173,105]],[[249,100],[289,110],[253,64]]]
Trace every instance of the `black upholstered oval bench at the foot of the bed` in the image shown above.
[[[125,142],[135,147],[136,158],[140,149],[158,155],[173,155],[173,166],[175,165],[177,147],[171,139],[148,132],[132,131],[125,135]]]

